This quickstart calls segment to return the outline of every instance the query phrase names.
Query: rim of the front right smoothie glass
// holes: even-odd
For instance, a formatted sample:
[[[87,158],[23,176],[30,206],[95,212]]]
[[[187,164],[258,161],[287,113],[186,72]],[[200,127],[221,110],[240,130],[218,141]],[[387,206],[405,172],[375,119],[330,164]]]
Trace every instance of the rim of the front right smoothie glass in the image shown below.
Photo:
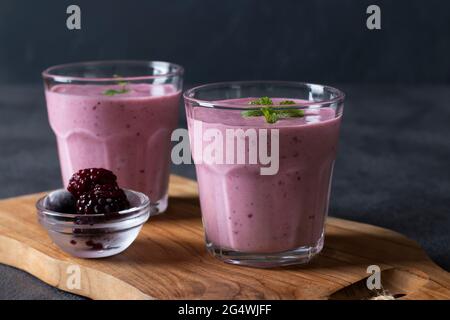
[[[191,103],[196,103],[197,106],[200,107],[206,107],[206,108],[221,108],[226,107],[224,109],[238,109],[238,110],[252,110],[252,109],[260,109],[261,106],[252,106],[249,107],[248,103],[226,103],[226,102],[217,102],[216,100],[203,100],[203,99],[196,99],[192,98],[192,95],[199,90],[208,89],[208,88],[220,88],[220,87],[231,87],[231,86],[237,86],[237,85],[252,85],[252,84],[272,84],[272,85],[295,85],[298,87],[322,87],[323,89],[329,90],[330,92],[334,93],[336,97],[332,99],[324,99],[321,101],[306,101],[302,102],[301,104],[292,104],[292,105],[283,105],[283,106],[274,106],[278,107],[279,109],[283,108],[304,108],[304,107],[324,107],[329,106],[331,104],[335,103],[341,103],[345,99],[345,94],[341,90],[331,87],[328,85],[322,85],[322,84],[315,84],[315,83],[309,83],[309,82],[301,82],[301,81],[279,81],[279,80],[252,80],[252,81],[224,81],[224,82],[214,82],[214,83],[208,83],[208,84],[202,84],[196,87],[193,87],[189,90],[186,90],[183,93],[183,98],[186,101],[189,101]],[[243,97],[244,98],[244,97]],[[289,97],[286,97],[289,98]],[[245,108],[243,108],[245,106]]]

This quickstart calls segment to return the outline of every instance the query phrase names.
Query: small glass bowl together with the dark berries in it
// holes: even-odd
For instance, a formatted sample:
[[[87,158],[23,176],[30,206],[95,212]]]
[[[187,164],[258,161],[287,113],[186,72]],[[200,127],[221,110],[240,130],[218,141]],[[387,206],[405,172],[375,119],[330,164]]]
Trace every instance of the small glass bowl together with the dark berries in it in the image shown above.
[[[67,190],[38,200],[39,223],[63,251],[80,258],[118,254],[136,239],[150,217],[150,200],[140,192],[123,190],[106,169],[83,169]]]

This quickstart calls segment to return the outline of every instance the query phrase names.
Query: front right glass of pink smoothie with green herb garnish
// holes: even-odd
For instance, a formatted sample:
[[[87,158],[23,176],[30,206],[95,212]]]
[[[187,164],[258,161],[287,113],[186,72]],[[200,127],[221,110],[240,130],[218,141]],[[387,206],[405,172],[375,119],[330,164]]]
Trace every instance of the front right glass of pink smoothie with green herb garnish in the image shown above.
[[[344,94],[259,81],[208,84],[184,99],[207,250],[254,267],[308,262],[323,247]],[[269,174],[264,145],[278,161]]]

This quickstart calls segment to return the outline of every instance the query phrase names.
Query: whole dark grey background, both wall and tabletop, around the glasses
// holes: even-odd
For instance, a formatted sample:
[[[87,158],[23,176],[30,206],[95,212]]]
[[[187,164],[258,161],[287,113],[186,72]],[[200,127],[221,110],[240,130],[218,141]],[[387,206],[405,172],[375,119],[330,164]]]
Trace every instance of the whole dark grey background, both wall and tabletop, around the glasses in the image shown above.
[[[72,3],[81,31],[65,28]],[[365,28],[372,3],[381,31]],[[330,214],[399,231],[450,270],[449,32],[444,0],[0,0],[0,198],[61,185],[40,83],[50,65],[157,59],[185,66],[188,86],[326,83],[347,94]],[[0,299],[36,298],[76,297],[0,265]]]

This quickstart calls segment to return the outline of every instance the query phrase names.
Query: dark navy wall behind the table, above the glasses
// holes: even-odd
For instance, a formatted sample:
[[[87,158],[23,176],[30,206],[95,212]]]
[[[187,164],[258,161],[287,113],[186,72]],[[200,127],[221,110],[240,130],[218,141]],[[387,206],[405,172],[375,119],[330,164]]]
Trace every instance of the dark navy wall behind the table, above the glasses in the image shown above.
[[[82,30],[65,27],[78,4]],[[366,8],[382,9],[382,30]],[[169,60],[190,83],[447,83],[450,1],[1,0],[0,84],[96,59]]]

